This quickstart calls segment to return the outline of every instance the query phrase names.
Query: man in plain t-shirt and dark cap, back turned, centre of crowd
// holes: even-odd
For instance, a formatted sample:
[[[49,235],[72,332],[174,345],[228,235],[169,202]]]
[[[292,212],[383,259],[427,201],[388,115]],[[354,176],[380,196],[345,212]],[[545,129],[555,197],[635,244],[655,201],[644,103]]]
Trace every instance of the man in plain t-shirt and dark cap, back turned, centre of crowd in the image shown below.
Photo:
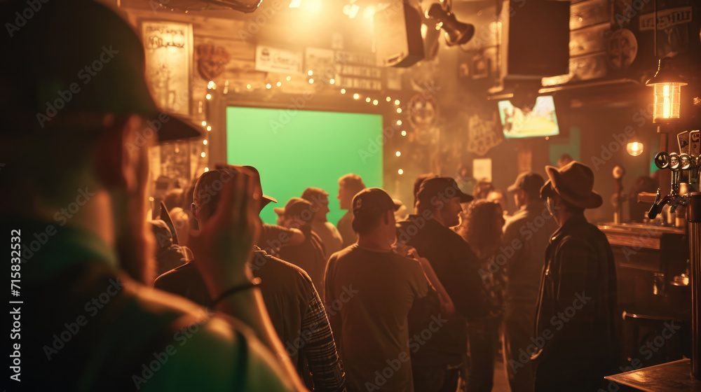
[[[397,207],[390,195],[361,190],[351,208],[358,242],[329,259],[325,298],[348,391],[414,391],[407,315],[428,295],[428,280],[418,260],[392,249]]]

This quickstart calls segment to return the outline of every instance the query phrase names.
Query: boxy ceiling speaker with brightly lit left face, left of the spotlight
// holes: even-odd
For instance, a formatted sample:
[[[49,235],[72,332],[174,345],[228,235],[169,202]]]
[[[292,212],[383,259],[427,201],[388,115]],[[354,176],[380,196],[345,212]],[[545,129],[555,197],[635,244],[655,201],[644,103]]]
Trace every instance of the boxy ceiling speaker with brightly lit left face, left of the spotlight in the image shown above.
[[[411,66],[423,59],[421,15],[395,0],[373,16],[377,66]]]

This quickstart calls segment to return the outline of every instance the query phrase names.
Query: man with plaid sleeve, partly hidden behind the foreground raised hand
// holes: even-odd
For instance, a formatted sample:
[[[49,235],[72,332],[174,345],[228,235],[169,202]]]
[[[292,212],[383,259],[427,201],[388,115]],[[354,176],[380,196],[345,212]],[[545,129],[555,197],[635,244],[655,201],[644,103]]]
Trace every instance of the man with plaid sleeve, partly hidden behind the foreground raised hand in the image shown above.
[[[217,183],[229,181],[231,177],[246,171],[247,167],[228,165],[200,176],[195,185],[192,206],[193,218],[200,225],[210,221],[222,197],[222,193],[212,192],[211,189],[219,188]],[[253,192],[263,195],[259,176],[254,176]],[[259,207],[259,213],[262,208]],[[154,286],[207,306],[207,289],[198,272],[197,262],[191,260],[159,276]],[[311,371],[313,382],[308,383],[308,387],[315,391],[343,391],[341,360],[336,353],[326,311],[308,274],[258,247],[249,265],[253,275],[264,282],[261,284],[261,294],[266,309],[292,364],[304,379]]]

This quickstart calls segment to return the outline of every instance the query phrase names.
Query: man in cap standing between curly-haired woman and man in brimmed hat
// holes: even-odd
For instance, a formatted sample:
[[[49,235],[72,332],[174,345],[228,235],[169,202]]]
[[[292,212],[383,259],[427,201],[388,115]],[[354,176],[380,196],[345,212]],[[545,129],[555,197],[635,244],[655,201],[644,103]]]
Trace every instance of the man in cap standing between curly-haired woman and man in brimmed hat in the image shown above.
[[[545,248],[557,230],[557,222],[540,200],[544,183],[539,174],[522,173],[508,188],[519,209],[504,225],[501,251],[507,281],[503,354],[512,392],[533,391],[533,367],[524,353],[532,343]]]

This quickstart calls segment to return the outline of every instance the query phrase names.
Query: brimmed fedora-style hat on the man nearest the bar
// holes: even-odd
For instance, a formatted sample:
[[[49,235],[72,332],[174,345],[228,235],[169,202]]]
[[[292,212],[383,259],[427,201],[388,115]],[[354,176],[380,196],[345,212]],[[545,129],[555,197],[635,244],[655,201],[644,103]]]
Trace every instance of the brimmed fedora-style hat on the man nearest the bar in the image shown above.
[[[557,193],[562,200],[575,207],[594,209],[604,202],[601,195],[594,192],[594,172],[581,162],[572,161],[561,169],[546,166],[548,180],[540,188],[540,197]]]

